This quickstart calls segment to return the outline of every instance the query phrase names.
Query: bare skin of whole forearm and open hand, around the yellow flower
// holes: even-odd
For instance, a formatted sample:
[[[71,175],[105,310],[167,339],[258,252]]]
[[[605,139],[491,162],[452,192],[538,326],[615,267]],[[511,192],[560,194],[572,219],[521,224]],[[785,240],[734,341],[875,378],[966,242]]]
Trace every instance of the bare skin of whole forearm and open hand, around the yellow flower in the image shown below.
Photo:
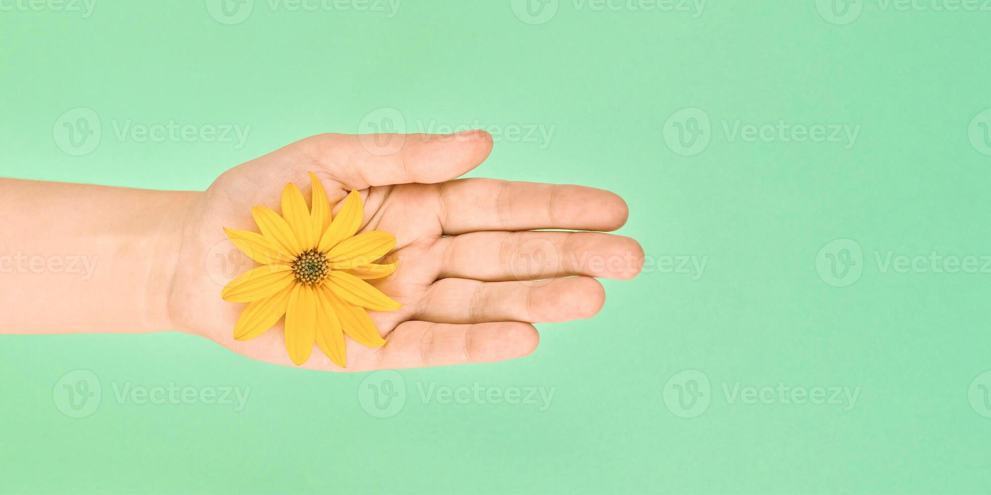
[[[395,236],[387,258],[398,258],[398,269],[370,282],[404,306],[370,312],[384,347],[346,338],[347,368],[316,347],[301,367],[363,371],[526,355],[539,342],[532,324],[595,316],[606,300],[596,278],[632,278],[643,250],[604,233],[627,218],[611,192],[457,179],[492,146],[483,131],[320,135],[236,166],[205,192],[0,179],[0,333],[182,331],[292,366],[281,322],[252,341],[233,339],[245,304],[221,300],[220,290],[254,265],[222,228],[258,232],[251,208],[279,211],[288,182],[308,202],[312,171],[335,213],[356,189],[365,202],[360,232]],[[74,270],[73,256],[82,257]]]

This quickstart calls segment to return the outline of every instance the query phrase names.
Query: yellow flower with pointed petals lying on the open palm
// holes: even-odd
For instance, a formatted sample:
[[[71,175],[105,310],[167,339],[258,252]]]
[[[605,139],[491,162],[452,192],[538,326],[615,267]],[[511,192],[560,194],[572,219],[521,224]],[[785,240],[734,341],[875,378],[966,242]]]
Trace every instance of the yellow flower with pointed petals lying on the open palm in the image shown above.
[[[402,306],[365,281],[395,270],[398,261],[374,262],[395,247],[395,238],[381,231],[355,235],[363,216],[358,191],[348,194],[331,220],[327,192],[316,175],[309,175],[312,208],[289,183],[282,189],[282,215],[264,206],[252,208],[262,234],[224,229],[234,246],[262,266],[227,284],[221,297],[248,303],[234,325],[234,339],[265,334],[285,315],[285,350],[292,362],[306,362],[316,342],[344,367],[344,334],[363,346],[385,345],[366,308],[393,311]]]

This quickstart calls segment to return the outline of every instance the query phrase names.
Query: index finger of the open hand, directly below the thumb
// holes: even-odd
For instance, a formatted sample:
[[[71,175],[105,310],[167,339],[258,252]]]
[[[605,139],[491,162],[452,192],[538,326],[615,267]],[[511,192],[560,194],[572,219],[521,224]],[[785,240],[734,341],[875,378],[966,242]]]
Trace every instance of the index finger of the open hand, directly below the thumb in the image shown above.
[[[628,210],[619,196],[577,185],[470,178],[441,187],[445,235],[476,231],[614,231]]]

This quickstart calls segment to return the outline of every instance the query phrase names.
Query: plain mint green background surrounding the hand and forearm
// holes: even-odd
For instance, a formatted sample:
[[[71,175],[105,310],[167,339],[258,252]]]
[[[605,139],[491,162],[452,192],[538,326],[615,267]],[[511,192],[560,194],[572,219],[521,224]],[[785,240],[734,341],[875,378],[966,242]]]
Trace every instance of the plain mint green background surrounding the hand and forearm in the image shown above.
[[[387,418],[359,392],[392,375],[295,370],[180,334],[4,337],[0,490],[991,491],[991,418],[973,395],[991,385],[975,379],[991,369],[991,273],[875,259],[991,254],[991,156],[968,139],[991,107],[991,12],[870,0],[840,25],[814,1],[711,1],[693,16],[561,0],[528,24],[541,19],[508,0],[404,0],[391,17],[256,0],[227,25],[203,1],[97,0],[85,18],[13,1],[0,4],[15,7],[0,11],[0,175],[203,189],[297,139],[368,132],[387,107],[408,132],[553,129],[548,143],[496,138],[473,175],[615,191],[630,207],[620,233],[650,259],[708,257],[701,276],[605,281],[598,317],[539,326],[525,358],[400,370],[405,402]],[[56,145],[77,107],[102,128],[82,156]],[[689,156],[664,139],[686,107],[711,119]],[[118,139],[129,120],[251,127],[240,148]],[[737,120],[860,131],[850,148],[749,143],[724,132]],[[837,239],[862,248],[841,287],[817,270]],[[102,385],[83,418],[56,407],[75,369]],[[692,418],[665,401],[685,369],[711,384]],[[241,411],[121,403],[113,387],[128,383],[251,392]],[[554,395],[545,410],[420,395],[476,383]],[[723,391],[736,384],[859,395],[747,404]]]

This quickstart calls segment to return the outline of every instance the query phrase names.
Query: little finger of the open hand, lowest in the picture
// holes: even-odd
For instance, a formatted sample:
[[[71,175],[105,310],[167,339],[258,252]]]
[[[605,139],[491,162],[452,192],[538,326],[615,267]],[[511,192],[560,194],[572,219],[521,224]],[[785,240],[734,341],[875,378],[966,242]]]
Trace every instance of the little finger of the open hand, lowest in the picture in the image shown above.
[[[358,366],[385,369],[500,361],[529,354],[539,342],[537,329],[526,323],[406,322],[388,336],[388,344],[381,347],[374,362],[363,361]]]

